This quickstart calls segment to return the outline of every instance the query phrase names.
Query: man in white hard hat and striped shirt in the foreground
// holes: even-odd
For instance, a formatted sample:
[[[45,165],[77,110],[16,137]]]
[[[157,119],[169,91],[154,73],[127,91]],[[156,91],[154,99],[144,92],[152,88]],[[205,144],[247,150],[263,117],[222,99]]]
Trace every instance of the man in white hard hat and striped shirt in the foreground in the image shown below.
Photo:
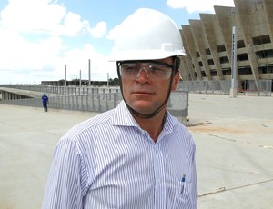
[[[167,112],[180,55],[167,15],[139,9],[126,18],[112,57],[124,100],[62,137],[43,208],[197,208],[195,144]]]

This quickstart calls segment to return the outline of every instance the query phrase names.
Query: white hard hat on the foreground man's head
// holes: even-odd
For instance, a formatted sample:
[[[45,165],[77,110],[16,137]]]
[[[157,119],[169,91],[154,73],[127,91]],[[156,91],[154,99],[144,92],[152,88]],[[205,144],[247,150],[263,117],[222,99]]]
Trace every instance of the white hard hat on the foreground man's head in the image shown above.
[[[119,26],[110,61],[154,60],[186,55],[175,22],[153,9],[141,8]]]

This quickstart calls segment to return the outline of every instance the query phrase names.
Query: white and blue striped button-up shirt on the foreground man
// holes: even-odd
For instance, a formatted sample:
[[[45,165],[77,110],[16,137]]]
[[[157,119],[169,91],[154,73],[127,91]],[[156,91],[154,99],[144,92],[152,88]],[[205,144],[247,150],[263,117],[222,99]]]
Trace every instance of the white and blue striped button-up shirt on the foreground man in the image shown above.
[[[43,208],[197,208],[192,136],[167,112],[155,143],[121,102],[61,138]]]

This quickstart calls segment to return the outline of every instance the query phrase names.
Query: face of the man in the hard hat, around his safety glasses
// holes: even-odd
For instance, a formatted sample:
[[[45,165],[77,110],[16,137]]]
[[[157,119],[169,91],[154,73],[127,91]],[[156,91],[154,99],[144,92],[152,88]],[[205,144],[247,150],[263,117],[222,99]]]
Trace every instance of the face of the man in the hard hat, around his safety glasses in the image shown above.
[[[173,65],[171,57],[157,60],[168,65]],[[139,63],[140,67],[147,67],[147,63]],[[169,90],[170,79],[174,79],[171,91],[177,89],[179,74],[174,78],[153,80],[148,77],[146,70],[141,70],[136,78],[122,76],[123,95],[126,103],[140,114],[152,114],[166,100]]]

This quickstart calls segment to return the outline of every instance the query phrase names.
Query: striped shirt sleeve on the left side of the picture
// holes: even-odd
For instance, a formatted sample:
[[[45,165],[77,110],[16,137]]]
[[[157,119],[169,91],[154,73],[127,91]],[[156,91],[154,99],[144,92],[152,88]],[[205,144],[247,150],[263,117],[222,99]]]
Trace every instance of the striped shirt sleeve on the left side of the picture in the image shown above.
[[[61,140],[54,153],[42,208],[83,208],[80,174],[81,157],[76,144]]]

